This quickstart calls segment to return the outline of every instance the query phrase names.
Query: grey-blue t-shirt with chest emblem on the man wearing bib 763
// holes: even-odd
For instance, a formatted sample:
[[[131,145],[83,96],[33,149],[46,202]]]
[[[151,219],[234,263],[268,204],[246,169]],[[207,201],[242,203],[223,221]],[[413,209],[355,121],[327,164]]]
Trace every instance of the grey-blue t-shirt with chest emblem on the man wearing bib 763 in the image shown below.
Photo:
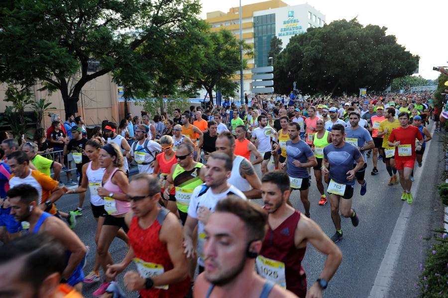
[[[355,180],[347,180],[347,172],[353,170],[353,162],[361,156],[358,148],[345,143],[341,148],[336,148],[333,143],[324,148],[324,158],[330,164],[330,178],[337,183],[354,185]]]

